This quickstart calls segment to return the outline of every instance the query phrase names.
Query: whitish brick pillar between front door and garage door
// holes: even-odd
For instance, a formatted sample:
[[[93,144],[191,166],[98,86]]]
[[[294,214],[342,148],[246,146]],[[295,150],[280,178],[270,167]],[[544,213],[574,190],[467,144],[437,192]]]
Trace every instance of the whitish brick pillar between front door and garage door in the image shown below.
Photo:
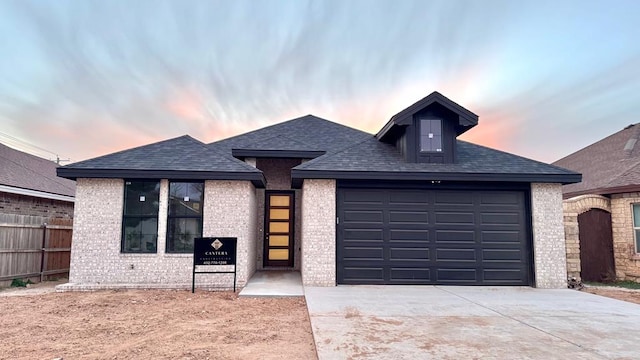
[[[336,285],[336,181],[302,184],[302,283]]]

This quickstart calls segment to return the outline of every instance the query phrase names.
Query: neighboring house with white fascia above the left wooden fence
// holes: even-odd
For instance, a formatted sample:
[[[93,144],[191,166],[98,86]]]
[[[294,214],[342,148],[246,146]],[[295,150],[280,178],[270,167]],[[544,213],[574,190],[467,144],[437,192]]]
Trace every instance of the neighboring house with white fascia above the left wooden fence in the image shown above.
[[[58,165],[0,144],[0,214],[72,218],[75,181]]]

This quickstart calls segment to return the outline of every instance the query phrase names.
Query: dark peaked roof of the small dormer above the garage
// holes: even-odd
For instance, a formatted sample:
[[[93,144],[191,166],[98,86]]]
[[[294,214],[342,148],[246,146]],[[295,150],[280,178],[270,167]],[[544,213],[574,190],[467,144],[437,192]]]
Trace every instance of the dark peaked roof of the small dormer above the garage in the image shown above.
[[[397,128],[411,125],[413,122],[413,115],[434,104],[439,104],[458,116],[458,124],[456,127],[458,135],[478,124],[478,115],[463,108],[439,92],[434,91],[408,108],[392,116],[384,127],[382,127],[382,129],[376,134],[376,138],[381,141],[388,142],[387,138],[394,136],[398,131]]]

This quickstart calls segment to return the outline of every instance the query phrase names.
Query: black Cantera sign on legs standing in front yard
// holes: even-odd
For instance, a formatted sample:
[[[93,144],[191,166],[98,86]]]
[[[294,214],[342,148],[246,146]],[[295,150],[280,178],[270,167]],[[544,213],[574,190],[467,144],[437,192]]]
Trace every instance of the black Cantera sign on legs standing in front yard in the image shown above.
[[[196,274],[233,274],[233,292],[236,292],[237,246],[238,238],[202,237],[193,239],[192,293],[196,288]],[[196,271],[198,265],[233,265],[233,271]]]

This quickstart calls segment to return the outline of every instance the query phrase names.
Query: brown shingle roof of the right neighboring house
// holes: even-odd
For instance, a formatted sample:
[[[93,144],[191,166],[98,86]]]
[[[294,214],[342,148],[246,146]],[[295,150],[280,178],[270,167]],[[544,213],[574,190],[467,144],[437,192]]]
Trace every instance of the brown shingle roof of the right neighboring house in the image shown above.
[[[565,197],[640,190],[640,124],[568,155],[554,165],[582,173],[582,182],[563,186]]]

